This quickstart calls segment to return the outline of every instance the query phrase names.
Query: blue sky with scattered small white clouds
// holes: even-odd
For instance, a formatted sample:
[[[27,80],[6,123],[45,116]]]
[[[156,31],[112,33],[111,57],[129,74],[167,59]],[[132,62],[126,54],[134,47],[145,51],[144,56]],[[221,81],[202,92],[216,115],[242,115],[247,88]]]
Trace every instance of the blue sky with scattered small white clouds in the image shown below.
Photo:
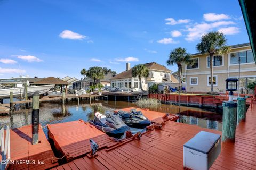
[[[166,65],[176,47],[196,53],[203,33],[249,42],[238,1],[0,0],[0,77],[82,78],[91,66]],[[172,71],[177,66],[167,66]]]

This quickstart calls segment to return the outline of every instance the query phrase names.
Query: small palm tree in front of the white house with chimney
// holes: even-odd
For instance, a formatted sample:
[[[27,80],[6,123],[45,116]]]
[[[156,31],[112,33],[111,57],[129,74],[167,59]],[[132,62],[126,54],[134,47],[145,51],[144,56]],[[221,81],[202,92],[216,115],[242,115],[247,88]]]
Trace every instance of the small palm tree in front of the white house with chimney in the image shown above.
[[[132,68],[132,77],[137,78],[139,77],[139,81],[140,81],[140,89],[142,92],[146,92],[145,90],[143,90],[142,88],[142,82],[141,82],[141,78],[147,78],[149,75],[149,70],[148,68],[143,65],[143,64],[137,64]]]

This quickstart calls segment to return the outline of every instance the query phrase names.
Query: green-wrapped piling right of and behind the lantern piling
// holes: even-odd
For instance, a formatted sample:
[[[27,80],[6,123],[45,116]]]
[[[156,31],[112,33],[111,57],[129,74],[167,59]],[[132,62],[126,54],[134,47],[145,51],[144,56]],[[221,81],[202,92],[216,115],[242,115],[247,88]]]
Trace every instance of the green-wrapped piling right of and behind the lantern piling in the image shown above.
[[[238,126],[239,122],[245,121],[246,117],[246,98],[238,97],[237,98],[237,122],[236,125]]]

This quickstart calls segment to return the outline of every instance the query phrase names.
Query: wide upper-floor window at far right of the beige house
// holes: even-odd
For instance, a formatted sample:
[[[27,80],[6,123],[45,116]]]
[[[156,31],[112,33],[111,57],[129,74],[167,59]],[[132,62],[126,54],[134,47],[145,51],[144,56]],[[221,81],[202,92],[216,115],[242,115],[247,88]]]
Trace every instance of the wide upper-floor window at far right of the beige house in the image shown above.
[[[240,63],[252,63],[254,62],[252,50],[244,52],[236,52],[230,54],[230,63],[238,64],[238,58],[240,57]]]

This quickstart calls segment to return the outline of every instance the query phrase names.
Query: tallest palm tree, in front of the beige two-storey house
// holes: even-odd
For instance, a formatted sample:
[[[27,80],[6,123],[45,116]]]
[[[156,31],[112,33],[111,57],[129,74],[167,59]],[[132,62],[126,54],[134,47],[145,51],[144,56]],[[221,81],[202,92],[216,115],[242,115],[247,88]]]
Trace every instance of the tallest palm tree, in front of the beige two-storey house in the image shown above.
[[[196,45],[198,52],[207,53],[210,56],[211,92],[213,92],[213,55],[230,52],[230,47],[226,46],[226,43],[227,39],[223,32],[213,31],[203,35],[201,42]]]

